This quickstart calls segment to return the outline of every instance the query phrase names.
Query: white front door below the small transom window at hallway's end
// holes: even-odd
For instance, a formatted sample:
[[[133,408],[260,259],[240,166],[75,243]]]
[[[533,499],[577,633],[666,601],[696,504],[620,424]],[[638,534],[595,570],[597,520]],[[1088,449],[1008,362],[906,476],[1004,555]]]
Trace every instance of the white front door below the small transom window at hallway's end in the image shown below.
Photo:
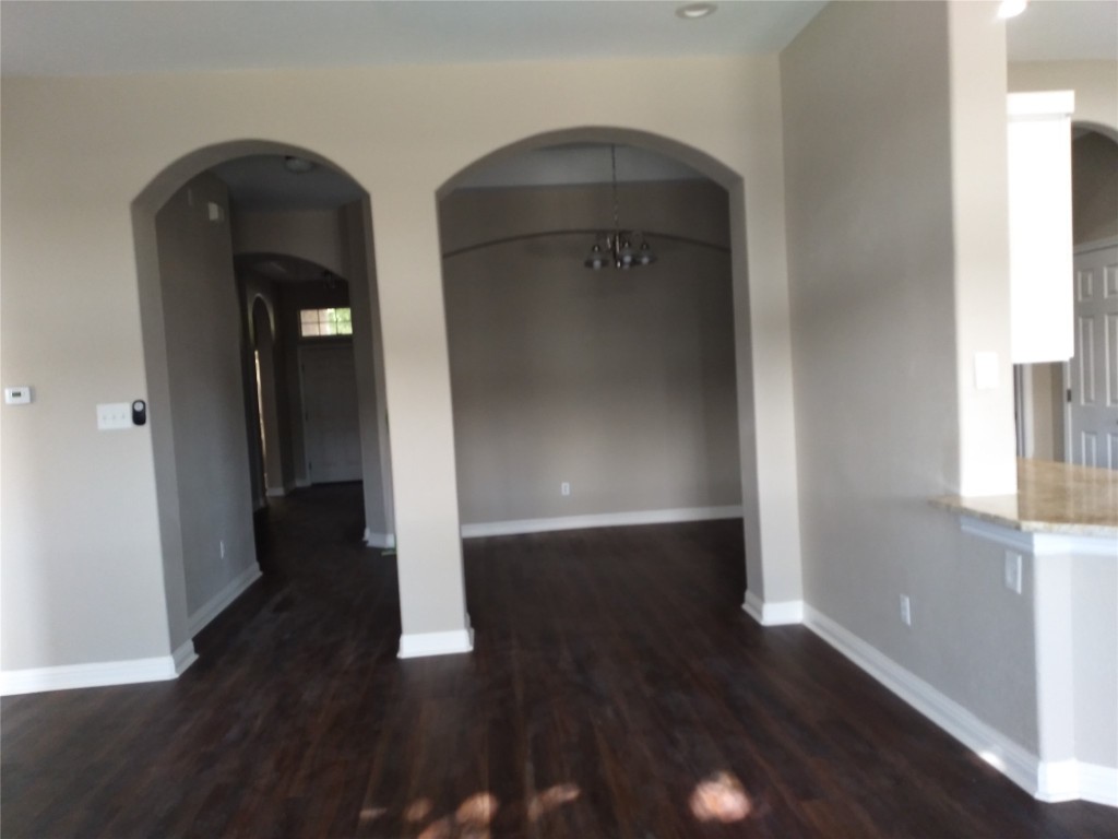
[[[349,342],[303,345],[303,439],[311,483],[361,480],[357,375]]]

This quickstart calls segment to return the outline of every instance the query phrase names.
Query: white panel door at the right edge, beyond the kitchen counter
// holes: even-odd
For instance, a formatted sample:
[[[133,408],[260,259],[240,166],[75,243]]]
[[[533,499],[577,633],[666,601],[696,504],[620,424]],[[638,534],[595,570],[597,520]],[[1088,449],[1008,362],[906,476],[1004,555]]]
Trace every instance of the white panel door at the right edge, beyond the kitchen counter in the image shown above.
[[[1118,469],[1118,245],[1076,254],[1068,461]]]

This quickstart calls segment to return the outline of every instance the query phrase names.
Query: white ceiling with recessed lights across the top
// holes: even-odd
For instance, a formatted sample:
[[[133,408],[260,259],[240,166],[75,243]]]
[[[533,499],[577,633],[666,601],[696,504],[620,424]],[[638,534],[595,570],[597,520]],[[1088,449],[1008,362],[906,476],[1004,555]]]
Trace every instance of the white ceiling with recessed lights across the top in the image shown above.
[[[748,55],[783,49],[825,4],[722,0],[682,20],[673,0],[3,0],[0,72]],[[1011,60],[1118,59],[1118,0],[1033,0],[1008,32]]]

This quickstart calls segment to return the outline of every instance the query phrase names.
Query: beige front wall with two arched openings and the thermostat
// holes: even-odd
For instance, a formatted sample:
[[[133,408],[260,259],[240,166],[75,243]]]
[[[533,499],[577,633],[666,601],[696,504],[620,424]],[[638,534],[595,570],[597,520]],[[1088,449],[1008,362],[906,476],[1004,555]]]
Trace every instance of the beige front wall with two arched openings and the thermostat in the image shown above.
[[[169,638],[181,643],[177,563],[173,549],[161,545],[154,506],[155,464],[165,465],[165,446],[143,433],[110,444],[88,417],[97,402],[143,395],[149,383],[159,387],[146,375],[141,341],[139,312],[148,303],[138,280],[148,287],[151,260],[146,238],[133,238],[133,201],[142,191],[145,201],[169,196],[187,176],[262,145],[244,138],[332,161],[372,197],[402,622],[413,634],[466,623],[436,219],[440,185],[510,143],[603,125],[674,143],[685,162],[728,182],[740,178],[746,190],[743,198],[731,195],[731,235],[741,239],[733,305],[739,417],[748,441],[750,586],[764,596],[798,598],[775,58],[6,77],[0,84],[2,374],[40,394],[30,409],[3,414],[6,454],[18,454],[3,458],[0,474],[6,488],[19,488],[3,496],[3,596],[37,604],[38,615],[20,623],[25,609],[4,611],[6,668],[161,656]],[[144,211],[146,204],[138,205],[141,227]],[[48,341],[21,326],[40,322],[42,312],[65,328],[66,340]],[[157,356],[149,353],[149,368],[158,368]],[[755,388],[764,399],[754,398]],[[102,491],[106,480],[115,488],[111,496]],[[92,496],[97,505],[85,503]],[[69,510],[67,528],[7,526],[46,522],[59,503]],[[98,586],[102,595],[91,600],[91,586],[56,584],[75,565],[98,579],[129,583]],[[155,588],[164,582],[161,603]],[[115,628],[124,614],[122,633]],[[28,632],[28,625],[40,630]]]

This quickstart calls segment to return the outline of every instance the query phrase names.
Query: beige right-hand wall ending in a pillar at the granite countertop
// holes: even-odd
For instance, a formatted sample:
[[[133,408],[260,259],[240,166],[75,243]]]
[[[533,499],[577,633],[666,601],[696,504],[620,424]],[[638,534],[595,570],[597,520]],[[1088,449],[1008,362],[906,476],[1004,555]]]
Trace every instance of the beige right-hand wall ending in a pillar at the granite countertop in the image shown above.
[[[998,592],[996,550],[928,503],[965,486],[960,446],[984,433],[999,427],[1012,461],[1007,234],[959,229],[979,209],[1006,215],[1003,178],[978,179],[982,207],[960,188],[998,149],[1005,171],[1004,31],[953,17],[975,8],[988,11],[832,3],[781,56],[804,588],[812,609],[1035,748],[1031,604]],[[1005,367],[989,405],[963,357],[979,348]]]

